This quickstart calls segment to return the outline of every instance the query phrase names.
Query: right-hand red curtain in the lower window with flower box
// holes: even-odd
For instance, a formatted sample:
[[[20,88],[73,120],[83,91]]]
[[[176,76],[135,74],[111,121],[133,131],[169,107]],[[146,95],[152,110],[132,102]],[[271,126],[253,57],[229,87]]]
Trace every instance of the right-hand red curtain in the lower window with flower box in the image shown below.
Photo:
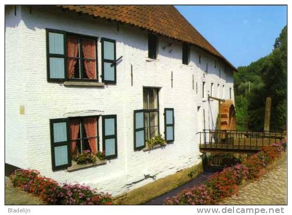
[[[84,128],[85,128],[85,132],[86,132],[86,137],[90,138],[90,137],[96,137],[96,132],[97,132],[97,126],[96,126],[96,118],[85,118],[83,120],[84,122]],[[87,139],[89,142],[89,146],[91,148],[91,151],[93,153],[97,152],[97,140],[96,138],[91,138],[91,139]]]

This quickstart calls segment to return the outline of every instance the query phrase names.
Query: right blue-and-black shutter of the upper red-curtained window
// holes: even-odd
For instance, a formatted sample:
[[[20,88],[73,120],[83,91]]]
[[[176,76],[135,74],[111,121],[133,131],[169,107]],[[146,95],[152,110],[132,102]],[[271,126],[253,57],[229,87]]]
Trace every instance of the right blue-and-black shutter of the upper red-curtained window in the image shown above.
[[[102,38],[102,82],[116,83],[115,40]]]

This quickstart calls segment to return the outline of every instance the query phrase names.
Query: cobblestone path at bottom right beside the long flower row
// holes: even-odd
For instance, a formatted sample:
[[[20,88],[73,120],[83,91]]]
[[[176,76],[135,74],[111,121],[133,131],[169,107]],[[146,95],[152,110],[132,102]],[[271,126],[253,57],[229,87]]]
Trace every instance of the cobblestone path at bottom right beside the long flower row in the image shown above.
[[[244,186],[238,196],[221,202],[223,205],[285,205],[286,204],[286,156],[282,156],[272,169],[259,180]]]

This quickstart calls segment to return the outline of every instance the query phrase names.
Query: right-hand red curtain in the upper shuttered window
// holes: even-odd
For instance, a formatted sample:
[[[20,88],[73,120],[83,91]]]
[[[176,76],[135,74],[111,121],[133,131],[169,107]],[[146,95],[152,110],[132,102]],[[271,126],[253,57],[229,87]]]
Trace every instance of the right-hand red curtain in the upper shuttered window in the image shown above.
[[[93,60],[84,60],[85,73],[89,79],[96,79],[96,47],[94,40],[82,40],[82,52],[83,58],[93,59]]]

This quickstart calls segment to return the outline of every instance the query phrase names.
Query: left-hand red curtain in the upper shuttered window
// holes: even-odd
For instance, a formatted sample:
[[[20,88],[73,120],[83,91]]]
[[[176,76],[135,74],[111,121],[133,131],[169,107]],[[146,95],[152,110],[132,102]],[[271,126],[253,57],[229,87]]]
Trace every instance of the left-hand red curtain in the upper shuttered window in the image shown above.
[[[76,58],[78,55],[78,38],[75,37],[67,37],[67,57]],[[67,62],[67,74],[68,77],[73,77],[75,65],[77,63],[77,59],[68,58]]]

